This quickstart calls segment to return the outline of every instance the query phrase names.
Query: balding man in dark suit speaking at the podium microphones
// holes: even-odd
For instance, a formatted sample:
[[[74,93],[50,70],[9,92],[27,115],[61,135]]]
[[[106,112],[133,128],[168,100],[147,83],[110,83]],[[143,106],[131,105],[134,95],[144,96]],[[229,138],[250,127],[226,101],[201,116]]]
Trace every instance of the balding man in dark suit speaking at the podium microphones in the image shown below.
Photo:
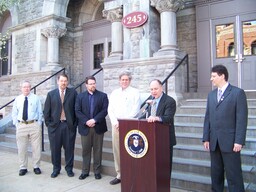
[[[162,122],[170,127],[170,177],[172,173],[173,146],[176,145],[174,129],[174,115],[176,112],[176,101],[163,92],[160,80],[155,79],[150,83],[150,92],[153,98],[148,108],[148,122]],[[154,109],[155,108],[155,109]]]

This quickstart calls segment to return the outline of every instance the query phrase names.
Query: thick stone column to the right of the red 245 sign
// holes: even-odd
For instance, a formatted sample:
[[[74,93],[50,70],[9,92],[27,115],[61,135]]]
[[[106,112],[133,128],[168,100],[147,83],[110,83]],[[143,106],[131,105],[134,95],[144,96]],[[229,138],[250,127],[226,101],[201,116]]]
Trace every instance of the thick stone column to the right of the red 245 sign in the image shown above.
[[[176,12],[184,7],[184,1],[151,0],[151,5],[158,10],[161,18],[161,49],[159,51],[176,50]]]

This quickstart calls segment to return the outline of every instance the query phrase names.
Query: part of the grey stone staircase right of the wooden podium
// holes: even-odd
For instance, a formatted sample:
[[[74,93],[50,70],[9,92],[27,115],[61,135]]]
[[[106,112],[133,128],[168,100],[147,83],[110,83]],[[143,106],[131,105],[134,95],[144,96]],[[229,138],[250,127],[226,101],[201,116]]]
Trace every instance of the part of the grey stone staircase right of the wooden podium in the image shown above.
[[[190,98],[193,98],[193,96]],[[175,115],[177,145],[174,147],[172,186],[191,191],[211,191],[210,155],[202,144],[206,99],[181,102]],[[199,96],[200,98],[200,96]],[[206,98],[206,96],[204,97]],[[248,93],[248,128],[242,170],[246,191],[256,191],[256,97]],[[227,184],[226,184],[227,186]]]

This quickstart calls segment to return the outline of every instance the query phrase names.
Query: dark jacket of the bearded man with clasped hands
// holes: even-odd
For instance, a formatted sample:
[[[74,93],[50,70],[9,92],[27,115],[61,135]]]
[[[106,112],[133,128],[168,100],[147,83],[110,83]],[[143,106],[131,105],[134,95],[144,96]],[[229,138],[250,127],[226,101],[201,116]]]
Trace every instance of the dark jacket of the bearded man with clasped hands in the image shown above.
[[[105,133],[107,129],[107,123],[105,117],[108,114],[108,97],[107,94],[95,90],[94,92],[94,111],[93,119],[96,121],[95,131],[98,134]],[[78,118],[78,132],[81,135],[87,135],[89,133],[89,127],[86,122],[90,120],[89,115],[89,95],[88,91],[80,93],[76,99],[75,105],[76,115]]]

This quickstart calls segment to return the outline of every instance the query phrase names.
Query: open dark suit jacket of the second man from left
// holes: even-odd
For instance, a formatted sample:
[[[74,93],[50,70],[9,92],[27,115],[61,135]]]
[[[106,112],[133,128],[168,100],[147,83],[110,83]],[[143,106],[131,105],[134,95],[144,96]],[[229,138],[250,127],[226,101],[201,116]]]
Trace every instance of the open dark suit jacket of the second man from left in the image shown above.
[[[66,88],[64,97],[64,110],[68,127],[76,131],[77,118],[75,115],[75,101],[77,92],[73,88]],[[59,89],[54,89],[47,94],[44,104],[44,119],[49,133],[53,133],[60,123],[61,99]]]

